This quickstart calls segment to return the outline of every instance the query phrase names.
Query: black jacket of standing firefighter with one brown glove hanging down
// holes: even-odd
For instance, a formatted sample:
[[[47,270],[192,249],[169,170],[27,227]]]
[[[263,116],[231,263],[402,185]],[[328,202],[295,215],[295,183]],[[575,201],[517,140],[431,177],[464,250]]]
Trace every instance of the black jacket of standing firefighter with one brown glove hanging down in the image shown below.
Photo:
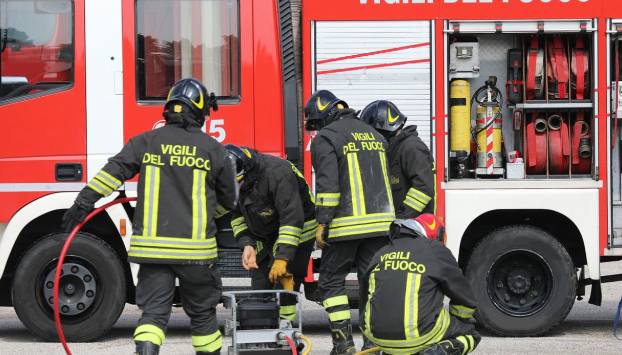
[[[395,214],[386,158],[388,144],[350,108],[320,130],[311,144],[318,223],[328,240],[389,235]]]

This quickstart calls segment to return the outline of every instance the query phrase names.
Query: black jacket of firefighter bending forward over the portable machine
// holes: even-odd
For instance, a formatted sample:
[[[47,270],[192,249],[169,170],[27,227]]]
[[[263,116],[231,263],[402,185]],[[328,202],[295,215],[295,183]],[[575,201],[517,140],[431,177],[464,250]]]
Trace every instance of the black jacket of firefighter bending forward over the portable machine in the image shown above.
[[[257,153],[258,164],[241,188],[231,228],[240,249],[251,245],[258,262],[266,255],[294,260],[299,244],[313,245],[315,199],[304,176],[289,161]]]

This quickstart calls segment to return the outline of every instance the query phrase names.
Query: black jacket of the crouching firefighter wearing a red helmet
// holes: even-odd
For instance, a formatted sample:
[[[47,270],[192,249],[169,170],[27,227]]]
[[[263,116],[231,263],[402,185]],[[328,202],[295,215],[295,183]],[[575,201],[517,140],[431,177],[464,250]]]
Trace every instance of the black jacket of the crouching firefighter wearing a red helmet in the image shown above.
[[[400,234],[374,255],[361,283],[367,303],[361,330],[389,354],[417,353],[438,343],[450,323],[468,322],[475,295],[445,245]],[[443,297],[450,299],[449,311]]]

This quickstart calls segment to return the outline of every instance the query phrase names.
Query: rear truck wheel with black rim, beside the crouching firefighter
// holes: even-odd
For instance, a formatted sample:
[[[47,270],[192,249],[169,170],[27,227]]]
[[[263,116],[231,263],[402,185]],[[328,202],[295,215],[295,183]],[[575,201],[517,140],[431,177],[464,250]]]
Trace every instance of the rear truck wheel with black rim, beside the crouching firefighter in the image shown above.
[[[502,336],[539,336],[555,328],[577,290],[564,245],[527,225],[486,235],[468,259],[466,277],[478,301],[475,319]]]

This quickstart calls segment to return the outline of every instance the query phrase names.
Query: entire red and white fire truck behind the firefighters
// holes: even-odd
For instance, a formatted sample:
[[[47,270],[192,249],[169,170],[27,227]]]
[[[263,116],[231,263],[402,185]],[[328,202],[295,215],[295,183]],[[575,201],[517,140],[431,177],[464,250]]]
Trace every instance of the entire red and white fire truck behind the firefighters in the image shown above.
[[[303,156],[311,182],[296,76],[304,98],[328,89],[357,110],[391,100],[434,153],[438,214],[481,324],[543,334],[587,285],[600,304],[601,283],[621,279],[600,275],[622,258],[619,1],[302,0],[301,20],[294,48],[287,0],[0,1],[0,305],[56,339],[63,212],[125,141],[163,124],[167,87],[188,76],[219,97],[207,134]],[[135,181],[101,202],[132,195]],[[104,333],[134,301],[132,206],[106,212],[61,280],[74,341]],[[225,285],[243,285],[219,224]]]

